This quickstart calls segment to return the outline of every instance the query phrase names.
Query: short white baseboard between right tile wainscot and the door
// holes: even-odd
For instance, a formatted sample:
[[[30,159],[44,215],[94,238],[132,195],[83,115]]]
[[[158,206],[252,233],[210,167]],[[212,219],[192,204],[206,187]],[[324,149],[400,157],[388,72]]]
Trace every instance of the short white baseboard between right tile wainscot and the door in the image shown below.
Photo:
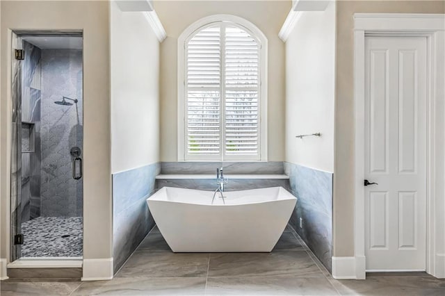
[[[334,279],[365,279],[365,257],[332,257],[332,277]]]

